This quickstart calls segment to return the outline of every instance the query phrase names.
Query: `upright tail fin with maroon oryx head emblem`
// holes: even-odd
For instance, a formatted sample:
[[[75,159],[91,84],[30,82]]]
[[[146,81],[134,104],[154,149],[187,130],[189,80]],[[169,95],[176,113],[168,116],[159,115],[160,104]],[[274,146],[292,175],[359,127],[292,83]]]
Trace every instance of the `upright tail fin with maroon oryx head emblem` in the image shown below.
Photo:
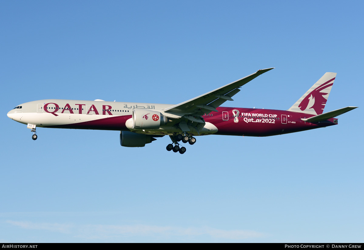
[[[336,73],[327,72],[288,111],[318,115],[324,112]]]

